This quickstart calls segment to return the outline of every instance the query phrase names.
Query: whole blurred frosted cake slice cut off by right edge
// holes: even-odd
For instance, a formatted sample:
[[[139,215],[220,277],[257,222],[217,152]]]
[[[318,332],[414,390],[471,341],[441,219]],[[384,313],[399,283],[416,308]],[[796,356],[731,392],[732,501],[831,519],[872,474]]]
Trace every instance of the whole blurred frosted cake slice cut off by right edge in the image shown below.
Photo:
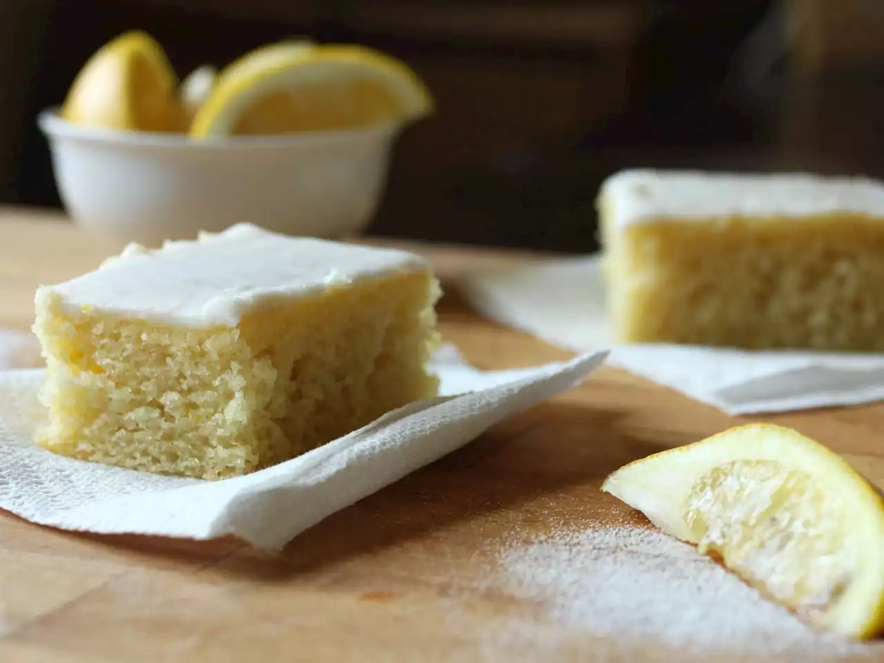
[[[598,197],[618,343],[884,350],[884,185],[621,171]]]

